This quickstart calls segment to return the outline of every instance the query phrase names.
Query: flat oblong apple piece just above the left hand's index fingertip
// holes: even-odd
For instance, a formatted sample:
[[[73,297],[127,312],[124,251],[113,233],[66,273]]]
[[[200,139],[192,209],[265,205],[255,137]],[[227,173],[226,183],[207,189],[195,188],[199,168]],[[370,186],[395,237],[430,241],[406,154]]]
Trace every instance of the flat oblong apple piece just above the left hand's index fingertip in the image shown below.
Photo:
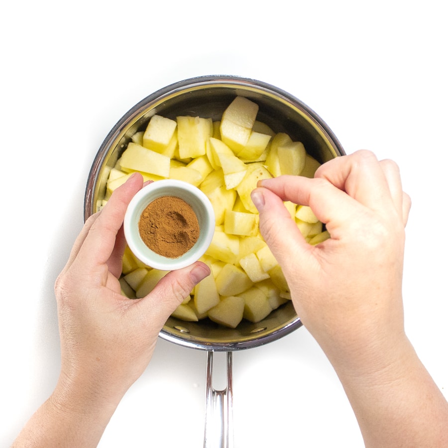
[[[120,165],[122,168],[143,171],[161,177],[169,177],[170,175],[169,157],[133,142],[129,142],[121,155]]]

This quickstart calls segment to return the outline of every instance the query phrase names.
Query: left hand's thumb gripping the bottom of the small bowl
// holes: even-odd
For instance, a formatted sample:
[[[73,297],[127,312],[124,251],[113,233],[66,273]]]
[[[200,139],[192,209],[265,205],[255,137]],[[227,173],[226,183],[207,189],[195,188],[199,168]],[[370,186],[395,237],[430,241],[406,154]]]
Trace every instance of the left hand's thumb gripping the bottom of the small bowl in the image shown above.
[[[195,285],[208,275],[210,268],[202,261],[168,272],[140,303],[150,309],[151,320],[162,328],[171,313],[191,293]]]

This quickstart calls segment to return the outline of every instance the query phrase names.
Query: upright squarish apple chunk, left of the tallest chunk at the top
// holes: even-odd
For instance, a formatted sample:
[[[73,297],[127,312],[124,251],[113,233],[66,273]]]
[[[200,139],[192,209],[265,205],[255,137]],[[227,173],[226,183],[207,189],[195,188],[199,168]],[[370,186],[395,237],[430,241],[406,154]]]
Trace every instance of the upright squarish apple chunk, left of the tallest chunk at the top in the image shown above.
[[[179,142],[179,157],[199,157],[206,153],[206,142],[213,133],[211,118],[199,116],[177,117],[177,139]]]

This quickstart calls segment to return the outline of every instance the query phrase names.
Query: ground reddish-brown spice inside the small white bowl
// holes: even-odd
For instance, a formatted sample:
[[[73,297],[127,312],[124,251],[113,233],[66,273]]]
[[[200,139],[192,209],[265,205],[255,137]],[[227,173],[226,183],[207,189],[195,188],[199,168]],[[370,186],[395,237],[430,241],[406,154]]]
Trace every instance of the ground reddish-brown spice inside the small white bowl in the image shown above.
[[[138,230],[152,251],[168,258],[180,257],[199,238],[195,212],[175,196],[162,196],[152,201],[140,215]]]

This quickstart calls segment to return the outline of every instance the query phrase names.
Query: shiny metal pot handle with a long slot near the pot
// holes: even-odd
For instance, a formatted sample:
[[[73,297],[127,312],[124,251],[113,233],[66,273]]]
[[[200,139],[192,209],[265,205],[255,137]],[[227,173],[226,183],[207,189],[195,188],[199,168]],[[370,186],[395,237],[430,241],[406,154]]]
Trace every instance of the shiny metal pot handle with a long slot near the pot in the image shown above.
[[[213,351],[207,353],[204,448],[233,448],[232,352],[227,352],[227,386],[212,385]]]

